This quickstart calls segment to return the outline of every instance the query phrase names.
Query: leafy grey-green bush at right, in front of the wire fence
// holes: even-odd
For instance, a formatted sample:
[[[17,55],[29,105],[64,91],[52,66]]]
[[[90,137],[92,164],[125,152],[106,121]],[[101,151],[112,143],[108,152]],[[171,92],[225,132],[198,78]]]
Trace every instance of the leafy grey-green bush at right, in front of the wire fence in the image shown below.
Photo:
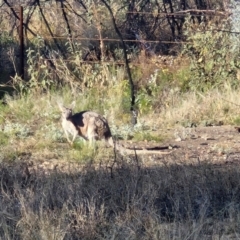
[[[193,24],[190,18],[185,23],[187,44],[183,45],[183,55],[190,59],[191,75],[182,83],[183,90],[206,91],[221,87],[226,81],[236,87],[239,62],[239,39],[231,33],[231,24],[226,19],[221,22],[202,21]]]

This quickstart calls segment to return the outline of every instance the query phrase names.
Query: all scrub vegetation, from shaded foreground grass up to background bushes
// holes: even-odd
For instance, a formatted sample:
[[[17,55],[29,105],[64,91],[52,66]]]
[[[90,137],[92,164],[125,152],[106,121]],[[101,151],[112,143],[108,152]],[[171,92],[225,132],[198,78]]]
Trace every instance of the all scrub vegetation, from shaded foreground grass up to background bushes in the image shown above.
[[[68,105],[75,100],[76,112],[89,109],[101,113],[115,138],[136,146],[139,142],[161,145],[174,137],[163,130],[176,126],[240,123],[239,37],[231,33],[227,17],[199,15],[194,20],[189,15],[181,21],[176,19],[182,22],[178,37],[184,41],[177,47],[151,45],[149,55],[138,45],[126,45],[134,107],[138,110],[138,122],[133,126],[131,86],[122,64],[121,45],[109,43],[103,47],[100,41],[100,59],[97,52],[90,51],[91,59],[82,61],[87,46],[96,47],[96,43],[62,40],[56,45],[44,39],[49,34],[47,25],[40,28],[39,24],[39,19],[46,16],[56,35],[65,30],[72,36],[89,38],[101,32],[100,40],[116,37],[104,2],[84,2],[88,12],[81,12],[77,1],[67,2],[79,7],[78,14],[84,13],[82,18],[69,19],[75,24],[70,28],[54,25],[58,16],[54,9],[51,14],[35,12],[27,26],[38,36],[28,32],[25,79],[17,74],[9,78],[1,65],[5,94],[0,105],[0,238],[240,238],[239,164],[215,166],[210,158],[189,162],[177,152],[162,157],[121,156],[101,143],[96,149],[81,139],[73,146],[67,143],[60,126],[58,101]],[[170,2],[176,7],[174,1],[158,2],[167,9]],[[221,1],[208,3],[209,9],[224,11]],[[188,4],[199,7],[191,1]],[[126,8],[114,2],[109,6],[123,36],[127,36]],[[139,2],[135,10],[144,11],[147,6],[150,8],[146,4],[138,9]],[[102,25],[97,22],[100,16]],[[162,40],[173,40],[172,28],[167,27],[172,26],[171,20],[164,19],[164,34],[157,29],[150,40],[160,35]],[[145,39],[150,36],[153,20],[160,20],[143,20]],[[66,19],[61,21],[63,26]],[[140,18],[136,21],[139,24]],[[11,51],[4,54],[14,69],[17,42],[8,32],[6,18],[1,18],[1,23],[6,27],[1,30],[1,50],[13,51],[12,55]],[[78,30],[73,31],[76,26]],[[105,47],[112,55],[103,50]],[[151,162],[151,158],[156,161]]]

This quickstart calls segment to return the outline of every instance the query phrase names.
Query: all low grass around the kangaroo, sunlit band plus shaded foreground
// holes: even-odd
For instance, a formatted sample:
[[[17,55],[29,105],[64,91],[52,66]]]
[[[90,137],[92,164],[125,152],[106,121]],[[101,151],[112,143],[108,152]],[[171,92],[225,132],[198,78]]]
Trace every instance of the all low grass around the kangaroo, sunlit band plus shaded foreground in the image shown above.
[[[176,88],[164,94],[161,111],[140,113],[133,128],[127,95],[121,97],[125,87],[115,81],[78,95],[64,88],[6,96],[0,131],[1,239],[239,238],[239,167],[216,167],[211,159],[187,164],[181,155],[148,164],[146,156],[115,156],[101,143],[93,149],[80,139],[69,146],[57,106],[59,100],[75,100],[76,111],[99,108],[115,136],[159,143],[169,137],[162,130],[186,122],[237,123],[238,90],[226,85],[203,95]]]

